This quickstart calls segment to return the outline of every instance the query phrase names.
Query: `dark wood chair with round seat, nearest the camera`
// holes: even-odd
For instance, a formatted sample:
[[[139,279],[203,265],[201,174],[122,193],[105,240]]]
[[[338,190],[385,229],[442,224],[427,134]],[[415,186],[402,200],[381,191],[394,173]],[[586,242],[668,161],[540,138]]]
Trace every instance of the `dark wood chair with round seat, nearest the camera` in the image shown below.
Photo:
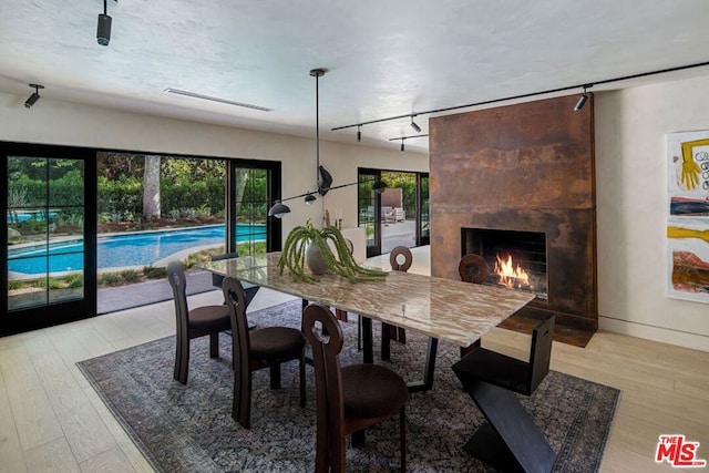
[[[362,445],[364,429],[399,414],[401,471],[407,467],[407,383],[378,364],[340,366],[342,329],[319,304],[304,310],[302,331],[312,347],[317,398],[316,473],[345,472],[345,441]],[[326,335],[327,333],[327,335]]]

